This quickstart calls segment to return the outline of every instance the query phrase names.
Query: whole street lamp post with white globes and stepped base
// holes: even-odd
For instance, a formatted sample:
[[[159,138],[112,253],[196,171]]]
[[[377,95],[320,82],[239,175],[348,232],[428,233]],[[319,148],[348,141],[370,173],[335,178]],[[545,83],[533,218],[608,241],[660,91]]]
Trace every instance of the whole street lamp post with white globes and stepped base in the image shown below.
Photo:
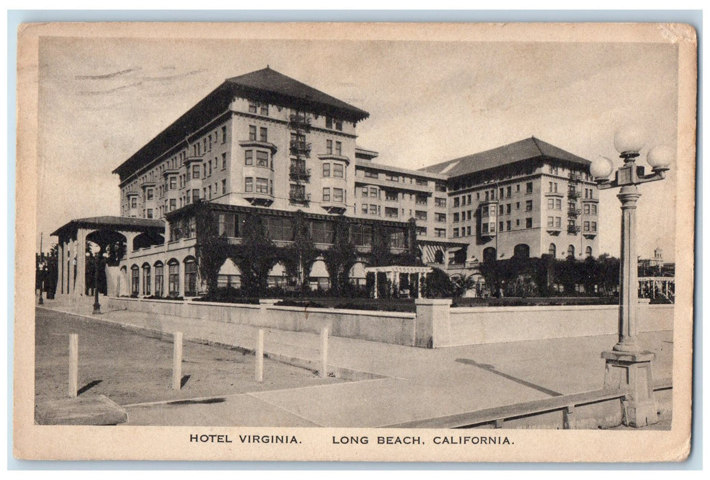
[[[628,388],[623,401],[622,421],[632,427],[643,427],[658,422],[653,396],[651,362],[655,354],[638,344],[638,261],[636,257],[636,202],[641,196],[638,185],[665,178],[673,153],[666,147],[654,147],[647,160],[652,173],[646,175],[636,158],[643,148],[637,131],[620,131],[614,136],[614,147],[621,154],[624,165],[618,168],[613,180],[611,160],[600,157],[591,165],[591,175],[599,189],[621,187],[617,197],[621,201],[621,267],[619,288],[618,342],[611,351],[603,351],[606,359],[604,385]]]

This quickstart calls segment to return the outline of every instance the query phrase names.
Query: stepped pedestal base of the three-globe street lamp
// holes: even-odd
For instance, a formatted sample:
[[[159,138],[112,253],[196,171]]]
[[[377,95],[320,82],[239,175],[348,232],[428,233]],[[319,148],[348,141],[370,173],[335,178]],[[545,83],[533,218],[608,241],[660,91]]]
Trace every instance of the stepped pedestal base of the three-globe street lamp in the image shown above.
[[[645,427],[658,422],[658,408],[653,395],[652,351],[603,351],[606,359],[604,387],[628,388],[621,402],[621,422],[628,427]]]

